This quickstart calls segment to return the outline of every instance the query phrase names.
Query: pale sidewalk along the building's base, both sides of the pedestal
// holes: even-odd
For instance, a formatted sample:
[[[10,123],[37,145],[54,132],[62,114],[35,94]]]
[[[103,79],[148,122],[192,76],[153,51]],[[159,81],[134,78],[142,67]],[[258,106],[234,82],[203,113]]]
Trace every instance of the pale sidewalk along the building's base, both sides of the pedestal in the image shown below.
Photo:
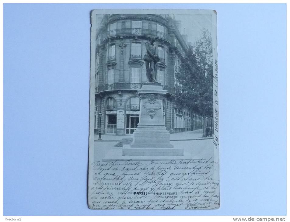
[[[98,140],[99,134],[95,134],[95,141],[120,141],[123,138],[133,137],[132,135],[125,136],[117,136],[117,135],[101,135],[102,140]],[[170,134],[170,140],[202,140],[202,139],[210,139],[213,137],[202,137],[202,129],[187,131],[182,133]]]

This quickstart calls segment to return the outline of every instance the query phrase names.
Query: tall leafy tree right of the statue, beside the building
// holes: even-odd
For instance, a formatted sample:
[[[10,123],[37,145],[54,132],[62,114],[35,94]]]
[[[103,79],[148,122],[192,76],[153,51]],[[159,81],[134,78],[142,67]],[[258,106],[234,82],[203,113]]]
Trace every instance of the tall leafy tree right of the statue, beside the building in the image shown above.
[[[187,107],[210,119],[213,116],[212,40],[208,30],[203,29],[201,39],[189,46],[175,77],[176,108]],[[202,123],[204,137],[206,124]]]

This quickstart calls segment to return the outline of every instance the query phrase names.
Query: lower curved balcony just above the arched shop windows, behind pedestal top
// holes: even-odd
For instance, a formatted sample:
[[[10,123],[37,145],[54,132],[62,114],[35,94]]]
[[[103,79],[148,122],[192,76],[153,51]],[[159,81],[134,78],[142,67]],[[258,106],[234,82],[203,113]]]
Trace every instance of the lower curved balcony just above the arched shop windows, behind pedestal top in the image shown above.
[[[96,93],[104,92],[104,91],[111,91],[111,90],[138,90],[141,89],[142,83],[112,83],[112,84],[105,84],[100,85],[96,88]],[[166,90],[167,93],[174,95],[174,88],[171,88],[167,85],[162,85],[163,90]]]

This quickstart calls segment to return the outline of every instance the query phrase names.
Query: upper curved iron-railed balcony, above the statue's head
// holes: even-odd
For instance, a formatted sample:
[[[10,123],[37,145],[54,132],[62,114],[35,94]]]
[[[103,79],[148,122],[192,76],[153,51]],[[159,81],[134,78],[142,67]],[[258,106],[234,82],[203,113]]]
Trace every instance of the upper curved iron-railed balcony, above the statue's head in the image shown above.
[[[171,43],[171,37],[167,35],[166,33],[159,32],[152,29],[138,29],[138,28],[114,29],[114,30],[107,31],[103,34],[103,41],[112,36],[124,36],[124,35],[128,35],[128,36],[140,35],[140,36],[147,36],[147,37],[154,36],[157,39],[165,40],[169,44]]]

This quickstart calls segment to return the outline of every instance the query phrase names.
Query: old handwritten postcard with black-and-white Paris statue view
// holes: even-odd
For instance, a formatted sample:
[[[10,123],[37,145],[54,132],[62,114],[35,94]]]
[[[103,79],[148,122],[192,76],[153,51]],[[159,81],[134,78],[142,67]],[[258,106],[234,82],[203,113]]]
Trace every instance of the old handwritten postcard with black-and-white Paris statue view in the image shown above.
[[[217,209],[217,14],[91,12],[88,205]]]

